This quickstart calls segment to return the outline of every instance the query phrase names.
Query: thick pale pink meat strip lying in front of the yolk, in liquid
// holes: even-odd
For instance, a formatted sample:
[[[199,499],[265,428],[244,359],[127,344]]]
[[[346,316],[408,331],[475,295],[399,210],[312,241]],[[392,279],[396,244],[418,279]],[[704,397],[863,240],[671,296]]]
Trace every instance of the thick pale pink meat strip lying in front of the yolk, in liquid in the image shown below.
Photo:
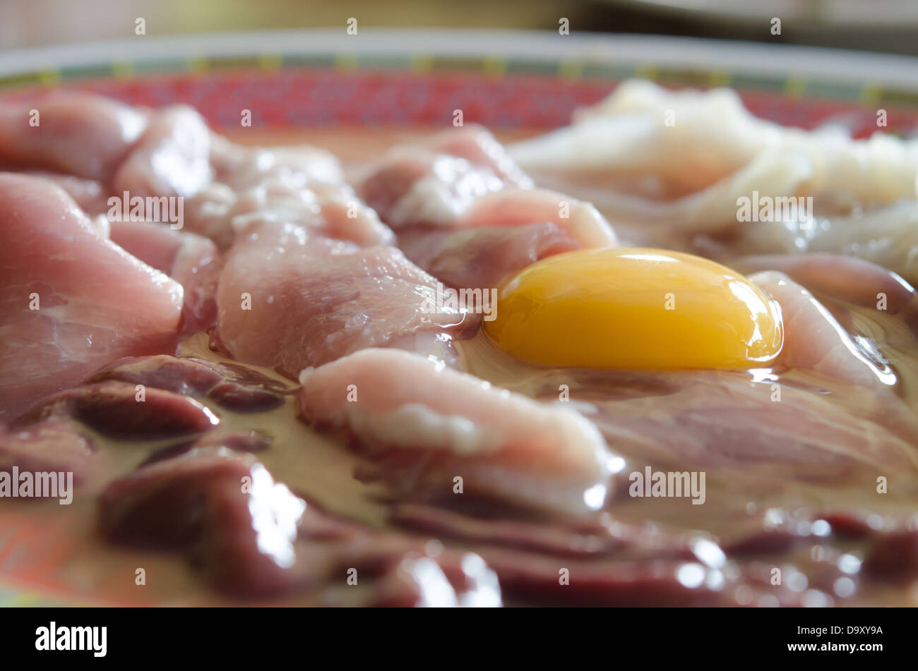
[[[394,451],[414,474],[403,485],[423,472],[445,497],[461,476],[473,495],[573,513],[605,498],[610,453],[574,411],[397,350],[364,349],[300,383],[308,422],[345,429],[370,455]]]

